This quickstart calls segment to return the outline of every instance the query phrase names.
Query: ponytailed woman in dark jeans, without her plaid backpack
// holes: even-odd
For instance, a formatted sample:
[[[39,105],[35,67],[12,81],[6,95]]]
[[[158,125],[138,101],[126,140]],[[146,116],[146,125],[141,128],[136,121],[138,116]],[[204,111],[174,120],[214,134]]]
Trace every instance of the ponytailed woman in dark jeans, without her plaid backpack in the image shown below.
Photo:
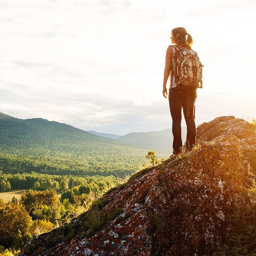
[[[178,156],[182,153],[181,140],[181,108],[187,124],[186,151],[190,151],[196,145],[196,125],[195,125],[195,100],[196,91],[188,91],[177,86],[177,73],[175,52],[183,48],[191,49],[193,44],[192,36],[190,36],[185,28],[172,29],[172,44],[167,48],[164,68],[163,96],[167,98],[166,83],[170,76],[169,87],[169,106],[172,116],[172,134],[173,134],[173,154]]]

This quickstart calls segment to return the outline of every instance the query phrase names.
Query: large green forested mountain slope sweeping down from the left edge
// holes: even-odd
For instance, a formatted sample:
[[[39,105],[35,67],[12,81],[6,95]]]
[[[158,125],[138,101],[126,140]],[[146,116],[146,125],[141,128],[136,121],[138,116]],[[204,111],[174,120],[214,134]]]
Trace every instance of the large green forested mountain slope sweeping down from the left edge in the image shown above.
[[[147,150],[42,118],[0,112],[0,171],[122,175],[146,161]],[[53,164],[54,163],[54,164]]]

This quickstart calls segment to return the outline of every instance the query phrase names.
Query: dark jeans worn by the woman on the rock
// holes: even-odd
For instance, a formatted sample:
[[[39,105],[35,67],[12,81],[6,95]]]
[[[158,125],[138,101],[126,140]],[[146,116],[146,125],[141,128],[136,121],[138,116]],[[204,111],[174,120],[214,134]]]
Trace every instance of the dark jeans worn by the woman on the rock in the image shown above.
[[[186,151],[196,145],[196,125],[195,125],[195,100],[196,92],[188,92],[185,89],[172,88],[169,91],[169,106],[172,116],[173,153],[180,153],[182,149],[181,140],[181,108],[187,124]],[[189,107],[189,116],[188,114]]]

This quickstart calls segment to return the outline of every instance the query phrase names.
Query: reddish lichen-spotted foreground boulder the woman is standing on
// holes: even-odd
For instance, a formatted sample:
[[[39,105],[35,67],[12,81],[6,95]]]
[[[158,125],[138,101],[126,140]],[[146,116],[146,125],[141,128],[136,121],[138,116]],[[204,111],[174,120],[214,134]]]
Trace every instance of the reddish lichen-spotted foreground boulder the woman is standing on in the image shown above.
[[[98,208],[32,239],[19,256],[217,255],[234,195],[248,200],[248,162],[236,136],[208,136],[214,141],[136,173],[105,194]],[[88,230],[92,220],[103,219],[94,233]]]

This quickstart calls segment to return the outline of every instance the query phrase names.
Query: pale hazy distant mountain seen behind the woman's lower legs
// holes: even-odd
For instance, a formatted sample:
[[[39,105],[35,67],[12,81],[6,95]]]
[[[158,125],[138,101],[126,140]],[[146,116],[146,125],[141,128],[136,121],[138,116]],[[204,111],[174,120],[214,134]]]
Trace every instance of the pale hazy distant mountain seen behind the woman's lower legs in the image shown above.
[[[181,129],[183,144],[186,141],[187,128]],[[128,145],[155,150],[163,155],[172,153],[172,129],[165,129],[158,132],[132,132],[117,138]]]

